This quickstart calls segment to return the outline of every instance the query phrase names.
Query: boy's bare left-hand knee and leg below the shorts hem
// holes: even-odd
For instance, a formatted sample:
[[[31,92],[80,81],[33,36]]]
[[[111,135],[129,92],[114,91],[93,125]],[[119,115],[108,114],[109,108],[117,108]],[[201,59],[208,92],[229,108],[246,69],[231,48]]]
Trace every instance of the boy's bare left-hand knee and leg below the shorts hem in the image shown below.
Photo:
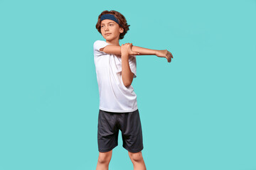
[[[112,157],[112,150],[109,152],[99,152],[99,159],[96,170],[108,170],[110,159]]]

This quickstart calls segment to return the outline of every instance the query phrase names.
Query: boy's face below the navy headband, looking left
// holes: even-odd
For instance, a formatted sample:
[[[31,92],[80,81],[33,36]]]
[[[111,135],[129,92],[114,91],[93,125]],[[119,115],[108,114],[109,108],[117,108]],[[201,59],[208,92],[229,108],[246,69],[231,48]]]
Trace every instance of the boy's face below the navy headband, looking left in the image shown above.
[[[101,22],[100,30],[105,40],[119,40],[119,34],[124,32],[124,28],[119,27],[118,23],[105,19]]]

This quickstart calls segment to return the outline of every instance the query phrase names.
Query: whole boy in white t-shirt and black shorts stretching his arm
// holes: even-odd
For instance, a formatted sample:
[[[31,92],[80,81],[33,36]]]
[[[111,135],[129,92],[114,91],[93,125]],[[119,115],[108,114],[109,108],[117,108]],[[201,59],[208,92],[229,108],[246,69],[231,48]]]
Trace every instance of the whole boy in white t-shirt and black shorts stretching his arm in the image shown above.
[[[96,170],[108,169],[112,149],[122,132],[123,147],[127,149],[134,169],[146,169],[142,157],[142,125],[137,108],[137,95],[132,87],[137,77],[135,55],[156,55],[171,62],[168,50],[150,50],[127,43],[120,47],[119,39],[129,30],[124,16],[117,11],[103,11],[98,16],[97,30],[106,41],[93,44],[95,69],[100,94],[97,142],[99,158]],[[120,168],[121,169],[121,168]]]

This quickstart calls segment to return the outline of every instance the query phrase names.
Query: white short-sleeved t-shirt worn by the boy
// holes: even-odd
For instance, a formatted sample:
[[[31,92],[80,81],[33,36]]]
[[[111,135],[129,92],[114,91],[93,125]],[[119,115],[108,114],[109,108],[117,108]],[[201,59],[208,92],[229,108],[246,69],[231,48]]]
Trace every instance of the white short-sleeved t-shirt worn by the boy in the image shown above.
[[[100,94],[100,110],[110,112],[132,112],[137,110],[137,95],[132,85],[128,88],[122,81],[122,58],[107,54],[100,48],[110,45],[103,40],[93,44],[95,69]],[[136,56],[129,56],[129,67],[136,75]]]

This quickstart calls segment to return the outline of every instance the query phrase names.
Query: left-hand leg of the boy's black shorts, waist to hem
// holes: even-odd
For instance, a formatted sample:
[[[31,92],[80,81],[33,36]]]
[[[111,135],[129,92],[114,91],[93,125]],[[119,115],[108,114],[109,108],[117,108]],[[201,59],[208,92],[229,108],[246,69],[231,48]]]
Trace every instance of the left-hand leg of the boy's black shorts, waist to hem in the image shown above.
[[[97,126],[97,142],[99,152],[109,152],[118,145],[117,115],[99,111]]]

